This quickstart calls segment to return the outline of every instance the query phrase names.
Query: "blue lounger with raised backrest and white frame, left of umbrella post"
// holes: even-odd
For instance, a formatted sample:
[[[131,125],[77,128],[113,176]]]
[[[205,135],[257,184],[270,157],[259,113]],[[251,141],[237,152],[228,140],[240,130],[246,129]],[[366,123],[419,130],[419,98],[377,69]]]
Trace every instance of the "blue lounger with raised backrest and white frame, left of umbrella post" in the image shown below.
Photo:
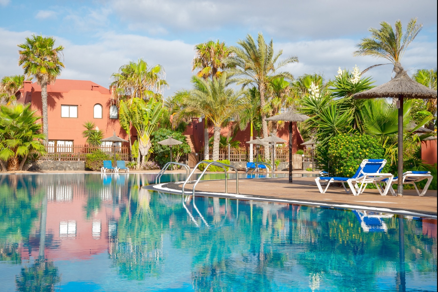
[[[347,183],[354,196],[358,196],[360,193],[364,192],[367,184],[374,183],[380,194],[386,196],[391,188],[386,185],[385,189],[383,189],[378,183],[383,182],[386,179],[387,182],[391,184],[394,175],[390,173],[380,173],[385,164],[385,159],[364,159],[360,163],[359,168],[357,168],[356,173],[351,178],[326,176],[315,178],[315,182],[316,185],[318,185],[321,194],[327,191],[332,182],[340,182],[348,194],[350,191],[345,187],[345,183]],[[327,186],[324,190],[321,187],[321,182],[327,182]],[[358,184],[360,184],[360,186]]]

